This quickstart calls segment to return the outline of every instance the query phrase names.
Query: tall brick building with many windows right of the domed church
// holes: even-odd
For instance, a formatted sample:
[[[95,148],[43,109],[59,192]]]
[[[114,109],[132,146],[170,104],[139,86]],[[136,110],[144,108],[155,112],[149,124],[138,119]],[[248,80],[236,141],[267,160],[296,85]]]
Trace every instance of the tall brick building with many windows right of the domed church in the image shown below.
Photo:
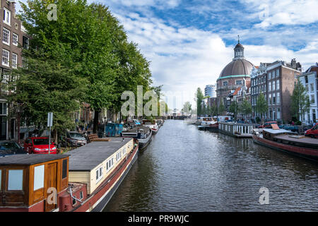
[[[263,93],[269,105],[265,118],[285,123],[290,121],[292,119],[291,95],[295,79],[300,73],[301,65],[295,59],[292,59],[290,64],[285,61],[261,63],[258,69],[254,69],[251,73],[252,116],[260,117],[255,107],[259,94]]]

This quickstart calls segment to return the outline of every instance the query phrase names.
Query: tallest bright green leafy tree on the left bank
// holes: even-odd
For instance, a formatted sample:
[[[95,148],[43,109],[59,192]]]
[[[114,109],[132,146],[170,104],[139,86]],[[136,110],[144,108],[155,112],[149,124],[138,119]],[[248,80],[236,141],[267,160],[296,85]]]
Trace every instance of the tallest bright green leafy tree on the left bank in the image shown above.
[[[20,19],[33,38],[30,49],[41,49],[47,59],[54,59],[61,66],[73,69],[87,86],[83,100],[94,110],[94,129],[102,109],[121,107],[124,90],[136,85],[150,89],[149,63],[140,54],[136,44],[128,42],[122,25],[102,4],[86,0],[59,0],[57,21],[47,20],[50,0],[30,0],[21,4]],[[36,59],[36,56],[33,56]]]

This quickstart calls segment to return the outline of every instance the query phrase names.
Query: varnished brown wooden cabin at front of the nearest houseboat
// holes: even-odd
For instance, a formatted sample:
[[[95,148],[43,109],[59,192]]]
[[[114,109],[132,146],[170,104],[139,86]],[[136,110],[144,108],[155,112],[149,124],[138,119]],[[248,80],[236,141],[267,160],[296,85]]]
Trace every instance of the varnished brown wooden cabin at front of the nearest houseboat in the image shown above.
[[[68,167],[68,155],[0,157],[0,211],[58,210],[54,198],[69,186]]]

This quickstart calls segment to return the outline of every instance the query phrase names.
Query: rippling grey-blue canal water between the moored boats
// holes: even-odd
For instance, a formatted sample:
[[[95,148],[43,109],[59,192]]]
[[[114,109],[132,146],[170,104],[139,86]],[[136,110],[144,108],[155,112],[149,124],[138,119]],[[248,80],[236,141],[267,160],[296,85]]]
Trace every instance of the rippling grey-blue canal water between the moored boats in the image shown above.
[[[317,185],[317,163],[166,120],[104,211],[317,211]]]

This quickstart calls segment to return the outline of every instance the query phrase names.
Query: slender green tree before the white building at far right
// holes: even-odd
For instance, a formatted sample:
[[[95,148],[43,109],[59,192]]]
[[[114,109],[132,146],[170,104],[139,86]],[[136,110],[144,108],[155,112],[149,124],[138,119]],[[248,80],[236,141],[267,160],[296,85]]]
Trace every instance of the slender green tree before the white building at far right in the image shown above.
[[[293,94],[291,96],[291,105],[290,109],[293,115],[301,121],[302,123],[302,115],[309,111],[310,109],[310,99],[306,94],[306,88],[302,83],[300,83],[300,79],[295,83],[295,87],[293,90]]]

